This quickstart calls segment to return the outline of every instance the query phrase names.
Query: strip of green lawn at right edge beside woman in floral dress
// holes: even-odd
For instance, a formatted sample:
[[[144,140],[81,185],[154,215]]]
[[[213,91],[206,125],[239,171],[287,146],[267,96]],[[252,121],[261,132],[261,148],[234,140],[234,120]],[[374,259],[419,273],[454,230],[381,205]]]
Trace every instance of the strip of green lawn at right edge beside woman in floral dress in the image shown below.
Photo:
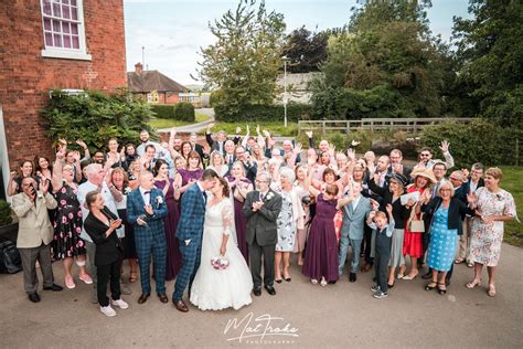
[[[523,219],[523,167],[503,166],[503,179],[501,180],[501,188],[509,191],[515,200],[517,216]],[[516,220],[505,223],[504,241],[514,246],[523,246],[523,224]]]

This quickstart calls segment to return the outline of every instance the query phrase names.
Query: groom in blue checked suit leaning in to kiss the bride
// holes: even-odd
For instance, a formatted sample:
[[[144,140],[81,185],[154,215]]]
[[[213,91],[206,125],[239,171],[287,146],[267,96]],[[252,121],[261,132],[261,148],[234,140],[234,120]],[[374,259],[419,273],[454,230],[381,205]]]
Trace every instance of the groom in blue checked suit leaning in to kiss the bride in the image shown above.
[[[200,266],[203,223],[207,203],[205,190],[213,188],[217,178],[218,176],[214,170],[206,169],[203,171],[202,178],[185,190],[180,204],[181,214],[178,222],[177,237],[182,254],[182,268],[178,273],[172,303],[178,310],[183,313],[189,311],[188,306],[182,300],[183,292],[189,284],[189,293],[191,293],[191,285]]]

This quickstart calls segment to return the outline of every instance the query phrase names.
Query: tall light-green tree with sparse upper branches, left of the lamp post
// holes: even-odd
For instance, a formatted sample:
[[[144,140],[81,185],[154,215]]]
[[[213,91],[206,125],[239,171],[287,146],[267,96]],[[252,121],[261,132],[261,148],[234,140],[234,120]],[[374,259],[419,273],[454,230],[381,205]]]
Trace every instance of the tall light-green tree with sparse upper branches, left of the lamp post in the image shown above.
[[[200,77],[220,89],[215,106],[238,112],[247,104],[271,104],[281,66],[284,15],[268,13],[265,1],[241,0],[209,24],[216,43],[202,49]]]

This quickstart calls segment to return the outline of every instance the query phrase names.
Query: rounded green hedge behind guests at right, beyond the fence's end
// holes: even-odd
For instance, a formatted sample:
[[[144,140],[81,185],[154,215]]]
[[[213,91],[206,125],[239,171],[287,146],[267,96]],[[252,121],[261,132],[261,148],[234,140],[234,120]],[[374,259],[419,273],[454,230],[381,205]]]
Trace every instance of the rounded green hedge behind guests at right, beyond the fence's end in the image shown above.
[[[430,147],[438,159],[442,159],[439,145],[444,139],[450,142],[456,168],[478,161],[485,166],[515,165],[516,139],[523,139],[523,129],[503,128],[492,120],[478,118],[467,125],[449,123],[427,127],[421,134],[421,145]]]

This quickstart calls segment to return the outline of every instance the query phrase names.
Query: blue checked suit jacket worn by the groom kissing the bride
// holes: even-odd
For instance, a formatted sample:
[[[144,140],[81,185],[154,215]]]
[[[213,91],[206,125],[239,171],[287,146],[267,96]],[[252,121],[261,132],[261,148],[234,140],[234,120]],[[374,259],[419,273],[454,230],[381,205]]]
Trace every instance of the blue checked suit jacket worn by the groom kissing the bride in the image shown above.
[[[205,220],[205,199],[198,183],[193,183],[185,190],[180,207],[177,237],[179,240],[201,240]]]

